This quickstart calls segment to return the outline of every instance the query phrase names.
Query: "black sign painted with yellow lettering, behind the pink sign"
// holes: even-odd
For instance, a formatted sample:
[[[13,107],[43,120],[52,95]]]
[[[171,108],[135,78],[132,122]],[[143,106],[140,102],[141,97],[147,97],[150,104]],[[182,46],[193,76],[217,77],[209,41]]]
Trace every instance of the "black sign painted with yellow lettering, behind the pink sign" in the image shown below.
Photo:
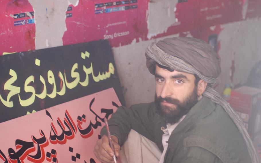
[[[124,104],[108,40],[4,55],[0,63],[0,122],[111,87]]]

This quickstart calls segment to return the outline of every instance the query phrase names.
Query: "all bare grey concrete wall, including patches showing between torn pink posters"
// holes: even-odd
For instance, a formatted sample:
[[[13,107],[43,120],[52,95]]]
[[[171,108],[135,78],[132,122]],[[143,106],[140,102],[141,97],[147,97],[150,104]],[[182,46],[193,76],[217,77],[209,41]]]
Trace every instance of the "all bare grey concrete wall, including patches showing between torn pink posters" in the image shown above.
[[[29,0],[35,11],[36,20],[36,49],[62,46],[63,33],[67,30],[65,24],[65,11],[69,4],[77,5],[77,0]],[[167,30],[170,24],[177,22],[172,10],[175,10],[175,3],[171,1],[156,1],[149,3],[148,36],[155,36]],[[48,7],[48,10],[46,9]],[[51,6],[51,7],[50,7]],[[167,7],[166,7],[167,6]],[[156,8],[158,8],[156,10]],[[159,17],[152,12],[155,10],[161,13]],[[246,11],[244,11],[246,12]],[[153,14],[154,13],[154,14]],[[154,15],[155,19],[152,18]],[[165,15],[165,17],[164,17]],[[243,14],[244,16],[244,14]],[[160,21],[160,23],[159,23]],[[164,22],[164,26],[159,26]],[[215,27],[211,27],[213,29]],[[226,83],[230,83],[230,70],[232,60],[235,61],[235,71],[233,84],[243,84],[252,66],[261,60],[261,20],[251,19],[240,22],[233,22],[221,25],[221,32],[218,35],[220,42],[219,56],[221,57],[222,73],[217,81],[216,90],[222,92]],[[190,31],[186,36],[191,36]],[[204,35],[204,33],[201,33]],[[179,36],[175,34],[167,37]],[[192,35],[193,36],[193,35]],[[152,39],[148,41],[133,40],[131,44],[113,48],[114,59],[120,76],[122,91],[125,96],[126,105],[150,102],[154,98],[154,76],[149,73],[145,65],[145,48],[153,41],[163,38]]]

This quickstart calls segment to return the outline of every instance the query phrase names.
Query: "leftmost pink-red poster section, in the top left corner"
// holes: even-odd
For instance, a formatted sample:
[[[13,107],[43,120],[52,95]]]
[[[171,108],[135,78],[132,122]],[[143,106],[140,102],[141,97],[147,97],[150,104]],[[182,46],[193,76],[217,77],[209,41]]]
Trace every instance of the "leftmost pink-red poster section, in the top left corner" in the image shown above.
[[[32,5],[28,0],[3,0],[0,5],[0,55],[35,50]]]

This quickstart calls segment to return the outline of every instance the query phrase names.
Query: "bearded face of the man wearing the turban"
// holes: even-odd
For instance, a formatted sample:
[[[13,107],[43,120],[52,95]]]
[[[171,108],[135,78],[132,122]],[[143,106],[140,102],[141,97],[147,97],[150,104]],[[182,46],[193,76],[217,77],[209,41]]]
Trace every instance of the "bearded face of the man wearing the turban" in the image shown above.
[[[174,124],[198,102],[195,76],[156,65],[155,104],[167,123]]]

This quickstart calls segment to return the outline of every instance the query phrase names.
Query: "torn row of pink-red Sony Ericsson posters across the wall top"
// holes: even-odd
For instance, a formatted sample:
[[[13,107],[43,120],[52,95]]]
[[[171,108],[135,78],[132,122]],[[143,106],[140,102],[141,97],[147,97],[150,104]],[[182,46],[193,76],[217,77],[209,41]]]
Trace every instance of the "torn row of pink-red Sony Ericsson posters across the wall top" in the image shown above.
[[[63,45],[108,39],[118,47],[257,18],[260,5],[260,0],[79,0],[64,11],[67,30],[61,39]],[[43,21],[35,20],[34,6],[28,0],[2,0],[1,7],[0,55],[34,50],[36,23]]]

